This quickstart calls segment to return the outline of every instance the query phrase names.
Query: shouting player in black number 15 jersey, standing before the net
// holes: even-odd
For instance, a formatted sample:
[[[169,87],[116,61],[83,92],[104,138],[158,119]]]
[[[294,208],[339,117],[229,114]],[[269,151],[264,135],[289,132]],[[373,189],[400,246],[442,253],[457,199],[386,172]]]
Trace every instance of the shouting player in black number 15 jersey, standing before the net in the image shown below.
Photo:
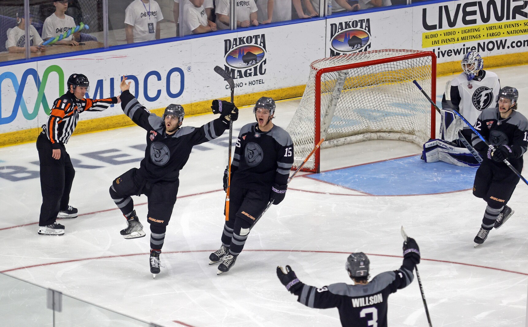
[[[275,101],[261,97],[253,108],[257,123],[240,130],[231,163],[229,220],[225,221],[222,246],[209,256],[210,265],[221,261],[218,275],[234,265],[254,221],[269,202],[279,204],[285,197],[294,145],[286,130],[272,123]],[[224,172],[224,190],[228,185]]]

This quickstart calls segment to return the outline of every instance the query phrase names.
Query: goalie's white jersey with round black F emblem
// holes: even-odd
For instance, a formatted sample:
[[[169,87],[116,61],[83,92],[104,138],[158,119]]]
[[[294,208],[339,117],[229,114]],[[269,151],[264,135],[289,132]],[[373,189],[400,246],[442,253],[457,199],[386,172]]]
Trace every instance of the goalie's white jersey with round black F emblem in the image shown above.
[[[451,102],[469,124],[475,125],[482,110],[495,106],[501,84],[497,74],[481,70],[474,79],[468,81],[466,74],[461,73],[451,81]],[[447,105],[446,95],[442,97],[442,108],[451,109]],[[464,126],[464,128],[469,128]]]

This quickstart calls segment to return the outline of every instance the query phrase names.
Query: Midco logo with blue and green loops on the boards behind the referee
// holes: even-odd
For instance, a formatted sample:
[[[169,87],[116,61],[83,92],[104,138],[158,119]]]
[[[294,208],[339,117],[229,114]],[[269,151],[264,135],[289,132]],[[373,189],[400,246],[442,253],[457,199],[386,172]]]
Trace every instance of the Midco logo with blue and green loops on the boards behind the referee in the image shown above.
[[[58,83],[56,85],[48,85],[48,79],[52,73],[56,74],[56,77],[58,77]],[[33,91],[26,91],[26,94],[24,94],[26,85],[31,85],[31,82],[28,81],[30,77],[32,77],[30,81],[33,80],[35,82],[36,89],[38,90],[36,98]],[[6,71],[0,74],[0,125],[13,122],[18,114],[18,108],[20,108],[20,111],[22,111],[22,115],[24,115],[26,120],[34,119],[39,114],[39,108],[41,106],[44,109],[46,115],[49,115],[49,104],[52,104],[55,98],[47,99],[46,95],[44,94],[44,90],[46,93],[48,93],[48,96],[50,94],[54,94],[55,97],[60,97],[66,92],[65,80],[67,80],[68,77],[69,75],[65,75],[62,68],[56,65],[46,68],[42,73],[42,79],[35,69],[26,69],[22,74],[20,83],[18,82],[16,75],[11,71]],[[140,87],[143,88],[143,97],[149,102],[156,101],[159,99],[159,97],[161,97],[162,89],[156,89],[156,86],[153,85],[153,83],[155,83],[154,80],[158,82],[162,81],[162,74],[160,72],[156,70],[147,72],[143,77],[143,83],[139,82],[139,77],[137,76],[127,75],[126,77],[128,80],[134,81],[134,89],[131,89],[130,91],[136,98],[140,99]],[[4,80],[10,80],[13,84],[13,88],[11,88],[8,83],[4,83]],[[106,86],[105,83],[107,83]],[[95,82],[91,81],[90,90],[93,92],[93,94],[90,96],[87,92],[85,97],[92,99],[107,98],[108,96],[113,97],[115,96],[114,92],[116,88],[118,88],[119,83],[120,79],[116,81],[113,77],[107,79],[107,81],[102,79],[99,79]],[[164,76],[164,83],[164,94],[166,94],[169,98],[180,97],[183,94],[185,87],[185,76],[183,70],[178,67],[174,67],[169,70]],[[4,86],[4,89],[2,89],[2,86]],[[10,108],[4,108],[6,101],[11,102],[12,99],[14,99],[13,108],[11,110]],[[26,104],[34,104],[33,111],[31,113],[27,109]],[[11,114],[9,116],[4,116],[6,113]]]

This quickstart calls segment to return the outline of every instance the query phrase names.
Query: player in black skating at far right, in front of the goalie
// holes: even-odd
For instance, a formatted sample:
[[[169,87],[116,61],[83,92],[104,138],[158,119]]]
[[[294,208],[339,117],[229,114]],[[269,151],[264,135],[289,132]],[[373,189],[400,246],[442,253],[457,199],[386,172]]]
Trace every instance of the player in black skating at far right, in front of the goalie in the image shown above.
[[[487,202],[480,230],[475,236],[475,247],[483,244],[492,228],[501,227],[513,214],[506,204],[512,197],[520,178],[510,170],[504,160],[518,171],[523,169],[523,154],[528,147],[528,120],[517,110],[517,89],[506,86],[499,91],[498,108],[482,111],[475,129],[495,147],[492,151],[473,134],[473,147],[482,153],[473,184],[473,194]]]

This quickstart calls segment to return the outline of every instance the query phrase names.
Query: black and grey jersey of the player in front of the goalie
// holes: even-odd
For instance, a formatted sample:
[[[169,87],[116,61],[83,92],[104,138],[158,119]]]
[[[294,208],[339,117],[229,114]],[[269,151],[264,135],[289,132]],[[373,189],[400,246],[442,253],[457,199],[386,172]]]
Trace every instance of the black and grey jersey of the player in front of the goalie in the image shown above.
[[[498,108],[488,108],[482,111],[478,117],[475,129],[489,144],[509,146],[513,155],[508,158],[508,161],[515,169],[521,171],[523,154],[528,147],[528,120],[526,120],[526,117],[513,110],[510,117],[502,119]],[[495,162],[488,159],[486,153],[488,146],[475,133],[472,135],[472,145],[477,151],[484,154],[484,160],[488,160],[495,166],[506,167],[503,162]]]

